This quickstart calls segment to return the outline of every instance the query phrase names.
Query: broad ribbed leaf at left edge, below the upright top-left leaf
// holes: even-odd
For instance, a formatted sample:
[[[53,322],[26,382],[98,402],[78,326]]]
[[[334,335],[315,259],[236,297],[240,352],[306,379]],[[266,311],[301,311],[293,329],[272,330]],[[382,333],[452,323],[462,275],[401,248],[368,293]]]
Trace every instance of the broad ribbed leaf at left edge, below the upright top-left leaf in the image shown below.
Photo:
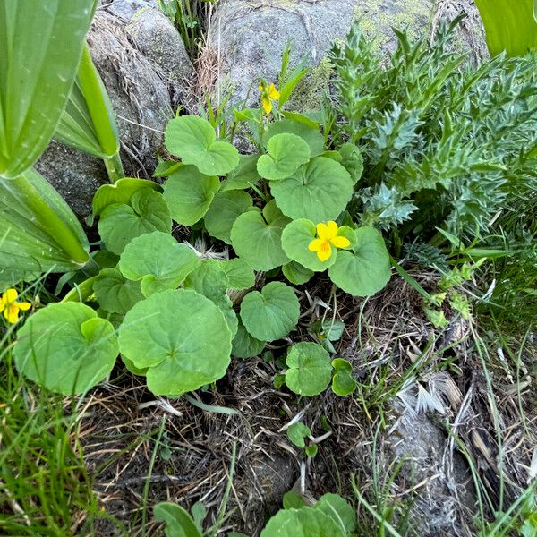
[[[30,168],[0,178],[0,288],[42,272],[81,268],[88,239],[64,199]]]

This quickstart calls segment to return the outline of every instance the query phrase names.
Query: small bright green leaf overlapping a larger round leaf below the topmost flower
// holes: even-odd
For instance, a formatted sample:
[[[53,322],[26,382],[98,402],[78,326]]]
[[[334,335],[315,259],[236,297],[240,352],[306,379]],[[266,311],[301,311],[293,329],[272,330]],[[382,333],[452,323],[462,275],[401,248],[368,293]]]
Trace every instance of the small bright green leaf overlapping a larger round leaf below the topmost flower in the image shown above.
[[[276,134],[267,144],[268,155],[261,155],[257,169],[261,177],[277,181],[286,179],[310,160],[310,148],[295,134]]]

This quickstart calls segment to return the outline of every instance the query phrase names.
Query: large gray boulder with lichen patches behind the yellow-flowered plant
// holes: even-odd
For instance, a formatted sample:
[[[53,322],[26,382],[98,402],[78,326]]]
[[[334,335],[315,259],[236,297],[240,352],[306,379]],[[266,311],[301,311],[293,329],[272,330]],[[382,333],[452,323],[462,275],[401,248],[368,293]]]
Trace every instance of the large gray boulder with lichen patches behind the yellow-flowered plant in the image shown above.
[[[309,56],[315,66],[299,86],[293,105],[299,110],[318,107],[322,90],[328,89],[328,51],[334,40],[345,38],[356,17],[373,45],[387,52],[396,46],[391,26],[417,38],[445,14],[453,18],[467,11],[475,20],[470,2],[461,0],[460,10],[447,10],[447,3],[440,2],[437,8],[432,0],[221,0],[209,31],[209,46],[220,50],[223,60],[219,94],[234,91],[230,104],[256,105],[259,79],[277,80],[282,51],[291,38],[292,64]],[[461,47],[484,44],[477,30],[465,27]]]

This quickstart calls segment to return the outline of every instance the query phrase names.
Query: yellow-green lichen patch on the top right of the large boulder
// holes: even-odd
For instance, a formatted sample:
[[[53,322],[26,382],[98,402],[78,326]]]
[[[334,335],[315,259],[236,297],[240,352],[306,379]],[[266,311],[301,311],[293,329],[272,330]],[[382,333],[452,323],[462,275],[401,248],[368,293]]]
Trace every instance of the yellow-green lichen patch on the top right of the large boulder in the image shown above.
[[[422,28],[432,16],[432,5],[423,0],[393,0],[387,8],[381,0],[369,0],[354,7],[354,16],[373,49],[382,51],[394,39],[392,26],[406,30],[410,38],[422,37]]]

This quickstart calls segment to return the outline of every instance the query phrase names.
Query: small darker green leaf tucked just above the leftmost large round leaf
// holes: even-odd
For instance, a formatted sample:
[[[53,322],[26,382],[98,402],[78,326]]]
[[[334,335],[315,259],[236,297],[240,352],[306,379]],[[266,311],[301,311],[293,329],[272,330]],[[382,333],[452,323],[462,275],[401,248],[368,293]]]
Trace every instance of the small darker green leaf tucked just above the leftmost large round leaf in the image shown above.
[[[140,282],[125,279],[116,268],[101,270],[93,283],[93,291],[100,307],[110,313],[124,314],[144,298]]]

